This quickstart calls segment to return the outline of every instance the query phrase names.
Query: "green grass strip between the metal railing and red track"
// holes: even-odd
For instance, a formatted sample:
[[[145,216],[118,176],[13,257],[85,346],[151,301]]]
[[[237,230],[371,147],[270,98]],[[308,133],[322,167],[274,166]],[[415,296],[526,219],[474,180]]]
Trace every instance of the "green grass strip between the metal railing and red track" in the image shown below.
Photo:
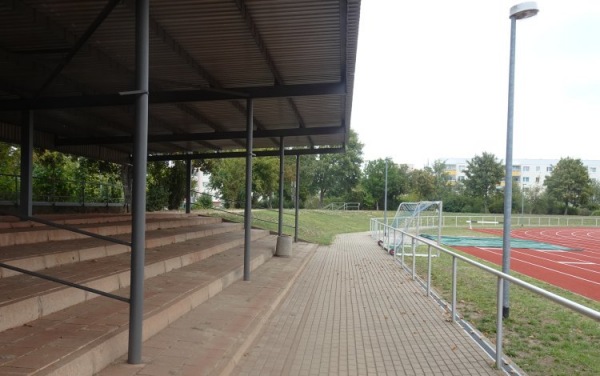
[[[444,229],[448,236],[481,236],[468,228]],[[423,247],[425,251],[425,247]],[[463,256],[471,255],[452,249]],[[484,260],[480,263],[500,270]],[[405,262],[412,267],[412,258]],[[426,276],[427,259],[416,259],[416,270]],[[513,272],[512,275],[595,310],[600,302],[570,293],[545,282]],[[497,278],[479,269],[458,263],[457,309],[464,319],[490,341],[496,338]],[[432,262],[432,284],[451,300],[452,258],[442,254]],[[600,323],[518,286],[510,290],[510,317],[504,321],[504,352],[529,375],[599,375]]]

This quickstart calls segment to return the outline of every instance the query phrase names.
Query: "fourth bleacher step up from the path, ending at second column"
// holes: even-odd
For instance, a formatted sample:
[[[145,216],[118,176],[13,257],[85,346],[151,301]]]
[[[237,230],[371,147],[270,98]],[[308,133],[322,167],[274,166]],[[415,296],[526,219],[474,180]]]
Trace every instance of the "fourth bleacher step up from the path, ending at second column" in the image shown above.
[[[242,224],[218,222],[148,231],[146,232],[146,249],[209,235],[239,231],[242,228]],[[131,234],[118,234],[114,238],[130,241]],[[0,262],[30,271],[40,271],[129,251],[129,246],[88,237],[86,239],[32,243],[26,246],[12,245],[0,247]],[[0,278],[18,274],[20,273],[0,268]]]

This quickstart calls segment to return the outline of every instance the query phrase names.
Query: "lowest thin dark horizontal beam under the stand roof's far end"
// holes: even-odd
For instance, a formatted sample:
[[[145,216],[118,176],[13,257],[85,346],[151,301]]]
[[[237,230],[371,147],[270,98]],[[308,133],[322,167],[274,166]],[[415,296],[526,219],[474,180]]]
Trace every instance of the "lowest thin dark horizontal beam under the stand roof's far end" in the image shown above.
[[[286,149],[285,155],[316,155],[316,154],[338,154],[346,152],[346,148],[319,148],[319,149]],[[279,150],[258,150],[253,152],[256,157],[277,157],[281,153]],[[171,154],[171,155],[149,155],[148,162],[158,161],[185,161],[188,159],[224,159],[224,158],[245,158],[245,151],[232,151],[225,153],[193,153],[193,154]]]

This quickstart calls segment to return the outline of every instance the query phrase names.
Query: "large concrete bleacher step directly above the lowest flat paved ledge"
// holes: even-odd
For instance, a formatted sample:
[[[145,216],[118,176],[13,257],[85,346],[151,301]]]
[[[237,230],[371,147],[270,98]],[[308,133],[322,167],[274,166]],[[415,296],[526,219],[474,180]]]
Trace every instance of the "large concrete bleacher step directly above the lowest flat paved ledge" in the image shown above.
[[[276,237],[267,234],[253,230],[257,239],[252,242],[252,270],[272,258]],[[194,241],[167,247],[174,253],[177,248],[194,248],[190,242]],[[145,282],[144,339],[241,279],[243,251],[241,243],[202,262],[183,266],[184,259],[196,257],[186,254],[180,261],[169,259],[157,266],[164,272]],[[127,288],[114,292],[129,293]],[[0,333],[0,374],[94,375],[127,352],[128,317],[126,303],[98,297],[5,330]]]

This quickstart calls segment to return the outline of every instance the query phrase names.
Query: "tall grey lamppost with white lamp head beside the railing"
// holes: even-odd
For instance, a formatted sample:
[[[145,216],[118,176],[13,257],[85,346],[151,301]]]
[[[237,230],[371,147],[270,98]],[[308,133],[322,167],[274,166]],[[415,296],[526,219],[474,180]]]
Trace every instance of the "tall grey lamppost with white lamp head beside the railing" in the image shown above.
[[[517,20],[533,17],[539,9],[534,1],[517,4],[510,8],[510,63],[508,72],[508,121],[506,125],[506,174],[504,184],[504,226],[502,236],[502,272],[510,273],[510,222],[512,210],[512,144],[513,108],[515,95],[515,40]],[[509,316],[509,283],[504,280],[502,316]]]

